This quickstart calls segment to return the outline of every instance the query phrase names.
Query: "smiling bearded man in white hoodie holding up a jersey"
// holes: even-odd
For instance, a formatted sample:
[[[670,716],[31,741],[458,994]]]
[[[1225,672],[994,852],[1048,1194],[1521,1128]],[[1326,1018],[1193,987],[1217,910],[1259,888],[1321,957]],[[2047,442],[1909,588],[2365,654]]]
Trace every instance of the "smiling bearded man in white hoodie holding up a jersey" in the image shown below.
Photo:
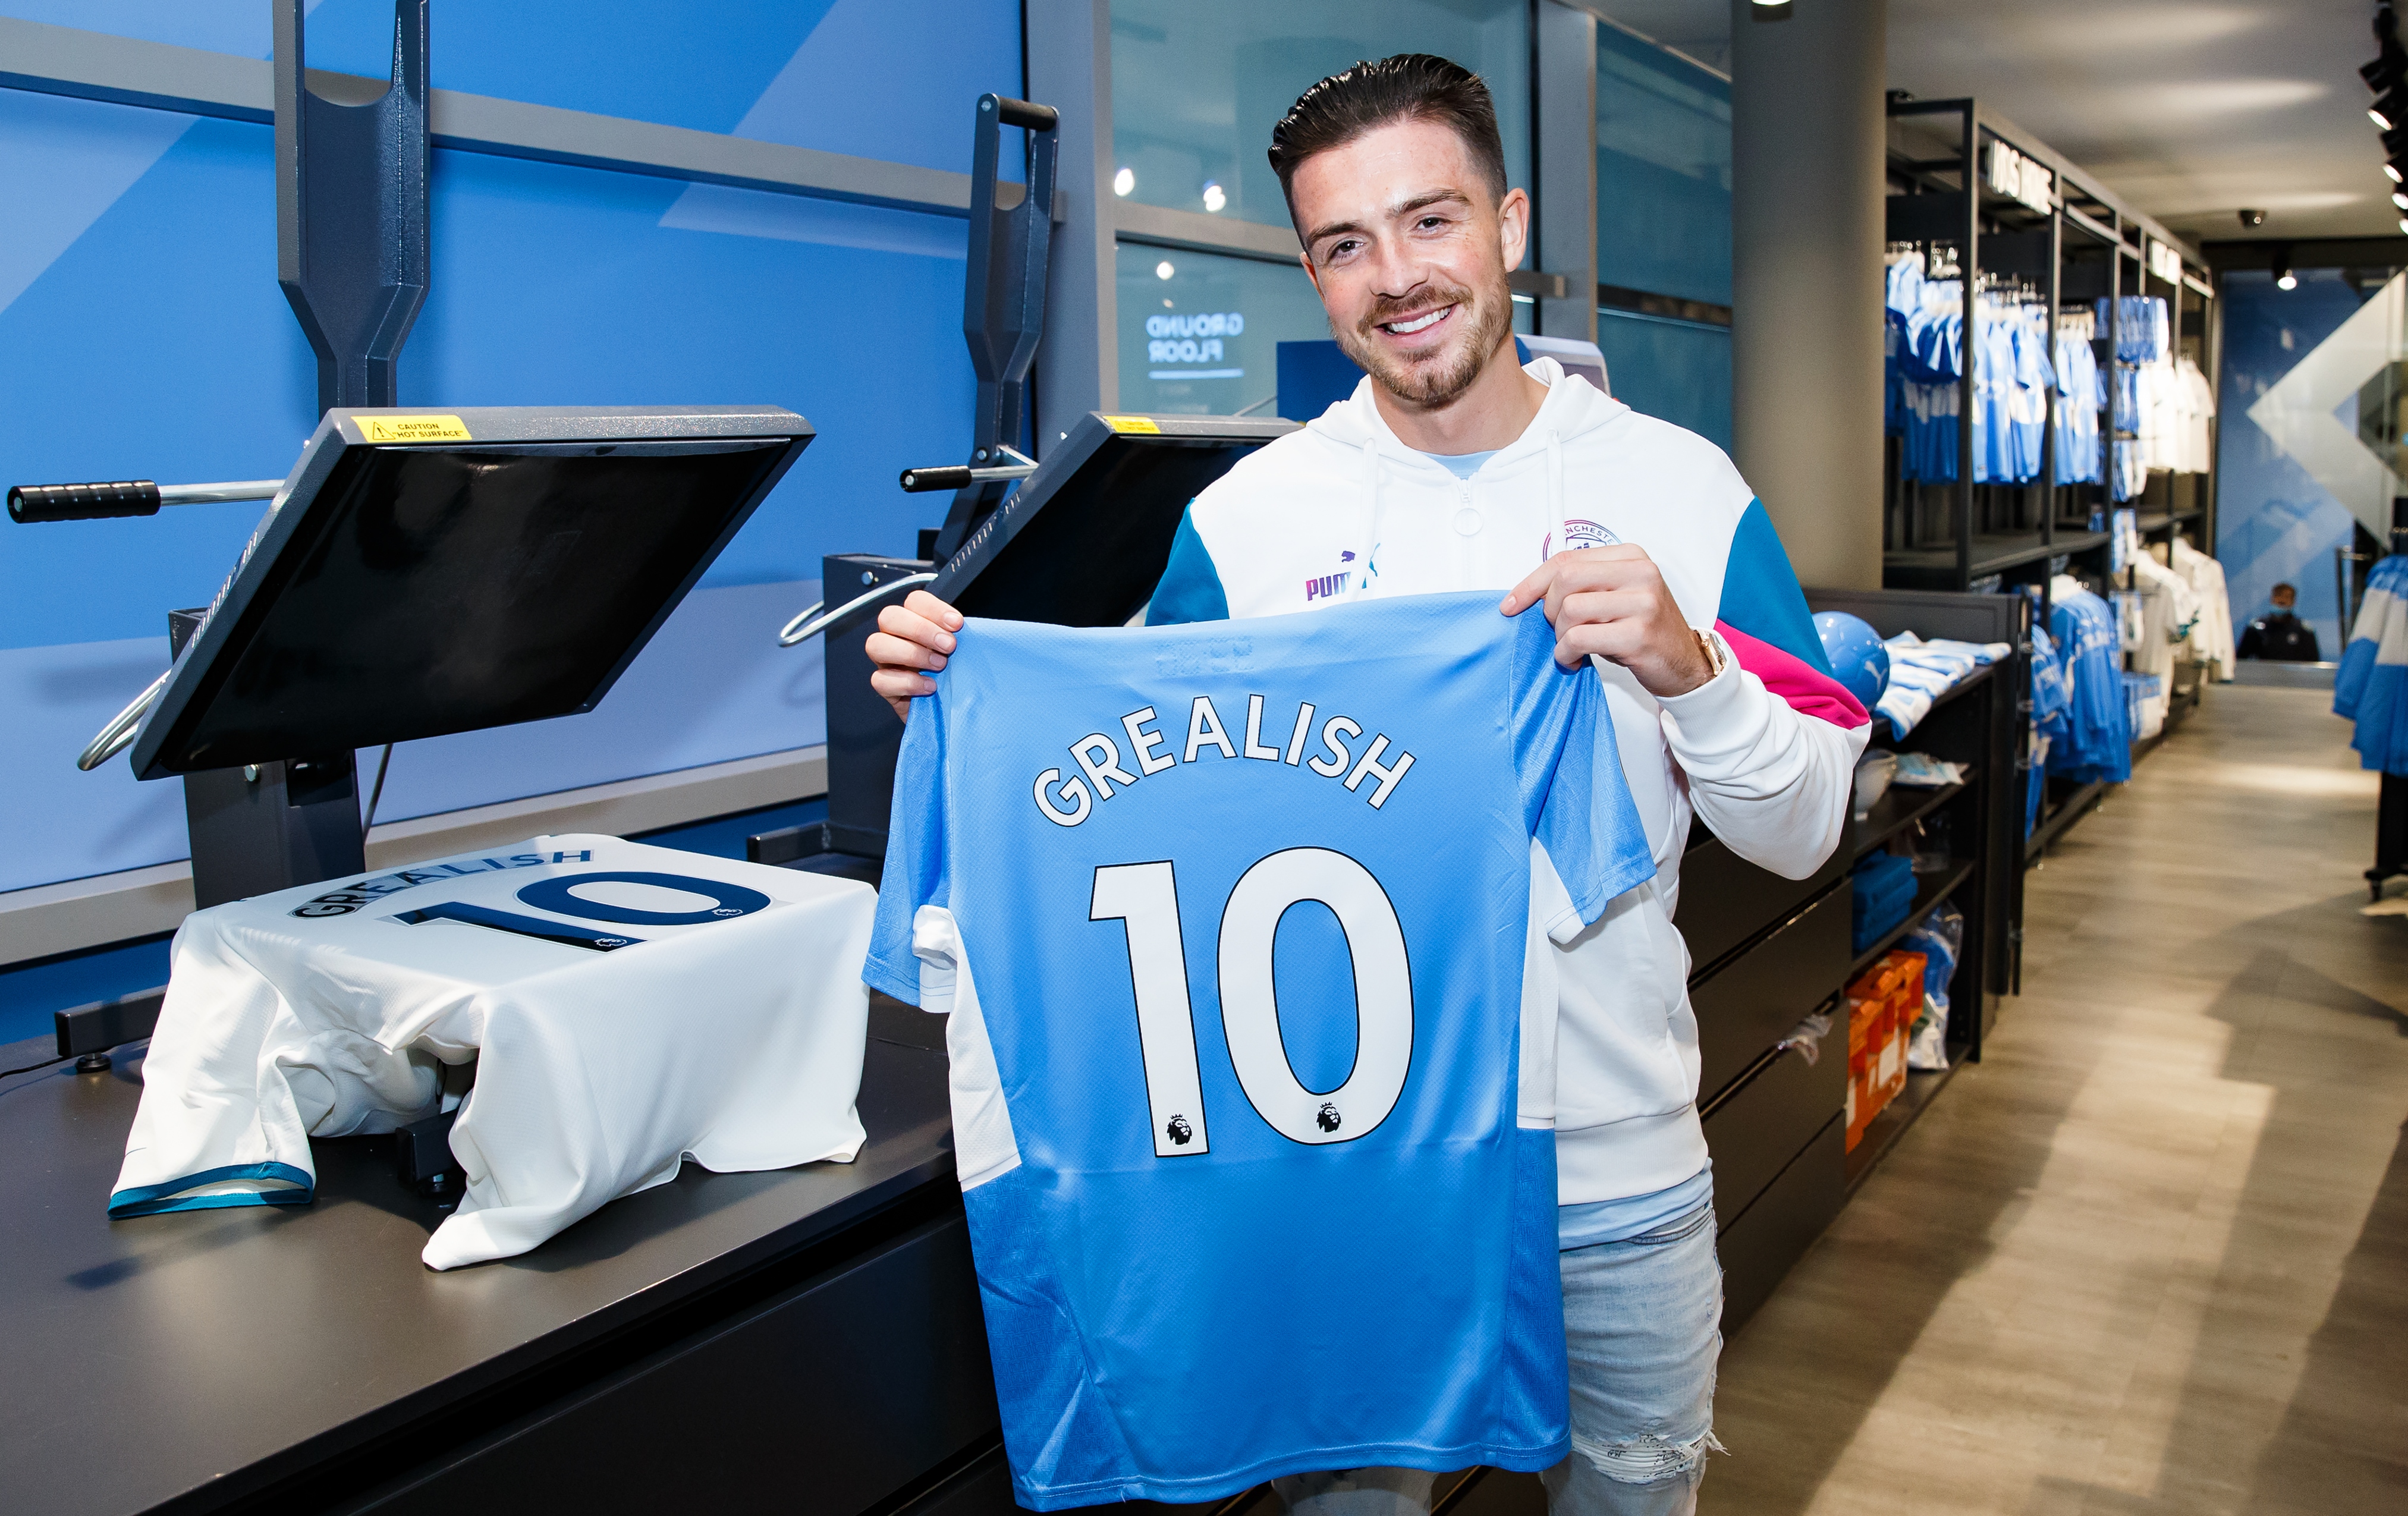
[[[1479,77],[1409,53],[1322,79],[1271,132],[1271,168],[1329,330],[1368,378],[1194,498],[1146,618],[1500,590],[1505,616],[1544,606],[1560,664],[1594,659],[1657,876],[1570,943],[1529,946],[1558,996],[1572,1367],[1575,1451],[1546,1482],[1558,1516],[1690,1511],[1717,1446],[1722,1273],[1674,929],[1681,852],[1695,813],[1741,857],[1813,874],[1847,825],[1866,715],[1830,679],[1731,460],[1551,359],[1515,363],[1505,274],[1529,245],[1529,197],[1505,183]],[[872,683],[898,712],[934,691],[958,628],[927,592],[879,614]],[[1534,907],[1563,890],[1544,861]],[[1430,1473],[1279,1490],[1315,1516],[1373,1516],[1428,1509]]]

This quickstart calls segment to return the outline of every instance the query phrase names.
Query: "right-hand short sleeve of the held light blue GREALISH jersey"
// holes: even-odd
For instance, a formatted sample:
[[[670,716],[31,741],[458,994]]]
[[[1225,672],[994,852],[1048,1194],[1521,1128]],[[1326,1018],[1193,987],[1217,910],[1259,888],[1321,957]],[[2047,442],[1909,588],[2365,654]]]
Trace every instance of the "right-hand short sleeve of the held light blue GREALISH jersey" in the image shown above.
[[[1582,662],[1556,664],[1556,628],[1544,614],[1515,618],[1512,756],[1522,823],[1546,849],[1570,910],[1541,922],[1568,941],[1606,914],[1616,895],[1654,878],[1647,825],[1623,782],[1606,693]],[[1599,760],[1606,753],[1609,760]]]

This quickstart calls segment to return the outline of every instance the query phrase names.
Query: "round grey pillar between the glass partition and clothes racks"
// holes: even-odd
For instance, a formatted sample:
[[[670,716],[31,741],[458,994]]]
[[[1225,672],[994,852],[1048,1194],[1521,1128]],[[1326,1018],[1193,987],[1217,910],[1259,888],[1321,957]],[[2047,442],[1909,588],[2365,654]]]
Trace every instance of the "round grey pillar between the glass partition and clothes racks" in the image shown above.
[[[1731,431],[1799,580],[1881,587],[1888,0],[1731,0]]]

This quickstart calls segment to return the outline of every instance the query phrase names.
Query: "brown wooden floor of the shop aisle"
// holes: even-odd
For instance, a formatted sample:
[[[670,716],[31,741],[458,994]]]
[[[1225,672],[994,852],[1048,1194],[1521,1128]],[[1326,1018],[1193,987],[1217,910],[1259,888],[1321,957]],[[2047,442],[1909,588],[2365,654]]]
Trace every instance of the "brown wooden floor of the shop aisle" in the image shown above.
[[[2408,914],[2329,705],[2208,691],[2030,876],[1987,1061],[1729,1343],[1702,1511],[2408,1511]]]

